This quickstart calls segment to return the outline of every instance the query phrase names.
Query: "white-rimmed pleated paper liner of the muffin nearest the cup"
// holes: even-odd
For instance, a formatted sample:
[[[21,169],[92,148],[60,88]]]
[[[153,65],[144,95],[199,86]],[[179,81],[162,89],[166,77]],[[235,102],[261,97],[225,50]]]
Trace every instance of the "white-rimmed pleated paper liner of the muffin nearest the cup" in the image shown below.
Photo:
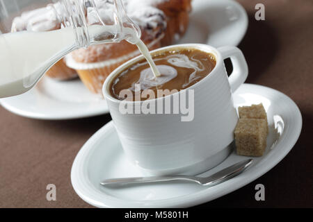
[[[148,45],[148,48],[153,50],[160,46],[160,42],[157,41]],[[68,67],[77,71],[79,78],[90,92],[102,95],[102,85],[104,80],[106,80],[106,77],[109,76],[114,69],[138,55],[140,55],[140,52],[136,50],[115,59],[90,63],[76,62],[71,55],[67,55],[65,61]]]

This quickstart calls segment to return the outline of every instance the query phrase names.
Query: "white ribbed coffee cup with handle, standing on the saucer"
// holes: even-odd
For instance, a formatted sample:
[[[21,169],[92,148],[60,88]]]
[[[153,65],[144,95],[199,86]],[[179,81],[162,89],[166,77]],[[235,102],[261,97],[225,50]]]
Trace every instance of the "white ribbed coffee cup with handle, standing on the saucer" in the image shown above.
[[[194,92],[194,118],[182,121],[184,114],[122,114],[121,103],[142,105],[143,101],[120,101],[111,96],[111,82],[130,65],[143,60],[138,56],[115,69],[103,86],[103,94],[118,132],[125,155],[141,169],[154,175],[198,174],[225,160],[234,140],[238,121],[232,100],[234,92],[248,76],[248,66],[241,51],[234,46],[215,49],[205,44],[179,44],[152,51],[200,49],[212,53],[216,67],[188,89]],[[223,60],[230,58],[233,71],[229,77]],[[182,96],[188,89],[176,94]],[[176,96],[177,96],[176,95]],[[171,94],[169,96],[175,96]],[[169,96],[150,100],[163,103]],[[171,104],[173,100],[170,100]],[[160,101],[159,101],[160,102]]]

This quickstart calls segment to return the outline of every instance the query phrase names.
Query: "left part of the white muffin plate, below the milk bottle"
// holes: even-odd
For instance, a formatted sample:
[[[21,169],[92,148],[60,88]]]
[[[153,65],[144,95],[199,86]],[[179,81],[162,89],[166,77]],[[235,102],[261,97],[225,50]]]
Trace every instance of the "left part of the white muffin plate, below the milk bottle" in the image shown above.
[[[0,103],[10,112],[33,119],[77,119],[109,113],[106,101],[91,94],[78,78],[56,81],[44,77],[29,92]]]

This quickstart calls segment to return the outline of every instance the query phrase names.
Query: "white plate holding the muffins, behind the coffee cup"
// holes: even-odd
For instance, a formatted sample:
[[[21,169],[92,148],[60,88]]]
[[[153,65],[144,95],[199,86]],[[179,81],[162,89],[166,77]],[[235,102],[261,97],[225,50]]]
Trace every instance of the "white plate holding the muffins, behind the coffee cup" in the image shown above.
[[[231,0],[194,0],[186,35],[177,43],[236,46],[248,27],[248,16]],[[26,94],[0,100],[4,108],[33,119],[77,119],[109,112],[104,100],[88,92],[79,79],[66,82],[43,78]]]

